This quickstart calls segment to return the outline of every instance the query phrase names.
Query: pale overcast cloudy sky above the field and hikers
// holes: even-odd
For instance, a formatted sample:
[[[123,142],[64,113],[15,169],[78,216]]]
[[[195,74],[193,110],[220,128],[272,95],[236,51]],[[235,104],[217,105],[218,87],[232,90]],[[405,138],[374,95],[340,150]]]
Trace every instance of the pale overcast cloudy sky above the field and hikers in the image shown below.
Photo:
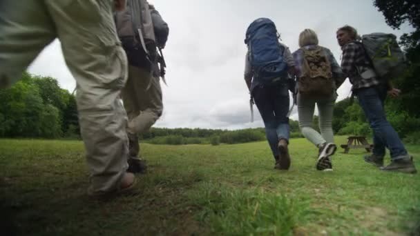
[[[164,49],[166,81],[162,83],[164,113],[155,127],[238,129],[263,127],[254,106],[250,122],[249,93],[243,79],[245,31],[258,17],[276,23],[283,43],[294,52],[305,28],[318,34],[319,44],[330,48],[338,63],[341,50],[336,29],[349,24],[359,34],[392,32],[398,37],[409,26],[392,30],[373,1],[330,0],[150,0],[169,24]],[[55,77],[73,91],[75,80],[66,68],[59,41],[50,44],[29,72]],[[338,89],[338,100],[350,93],[348,80]],[[291,118],[298,119],[296,107]]]

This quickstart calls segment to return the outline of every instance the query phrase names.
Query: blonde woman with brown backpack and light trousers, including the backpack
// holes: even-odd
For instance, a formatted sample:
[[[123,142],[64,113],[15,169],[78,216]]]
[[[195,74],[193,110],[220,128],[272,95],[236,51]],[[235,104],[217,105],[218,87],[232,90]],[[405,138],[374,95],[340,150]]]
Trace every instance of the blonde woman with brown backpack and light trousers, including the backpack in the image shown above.
[[[337,147],[332,132],[332,113],[337,99],[336,89],[345,76],[328,48],[318,46],[314,30],[299,35],[299,49],[293,52],[296,64],[297,106],[302,135],[318,148],[317,170],[332,170],[331,157]],[[312,128],[315,104],[318,107],[319,129]]]

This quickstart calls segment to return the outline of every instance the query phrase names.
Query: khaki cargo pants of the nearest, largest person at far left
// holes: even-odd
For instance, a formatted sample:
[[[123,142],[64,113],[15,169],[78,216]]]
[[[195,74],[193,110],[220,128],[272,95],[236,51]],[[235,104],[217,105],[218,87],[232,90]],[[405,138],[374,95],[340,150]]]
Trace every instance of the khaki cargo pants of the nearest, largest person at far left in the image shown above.
[[[17,81],[48,43],[61,41],[77,81],[90,194],[118,188],[127,168],[126,113],[118,100],[127,62],[112,8],[111,0],[0,1],[0,88]]]

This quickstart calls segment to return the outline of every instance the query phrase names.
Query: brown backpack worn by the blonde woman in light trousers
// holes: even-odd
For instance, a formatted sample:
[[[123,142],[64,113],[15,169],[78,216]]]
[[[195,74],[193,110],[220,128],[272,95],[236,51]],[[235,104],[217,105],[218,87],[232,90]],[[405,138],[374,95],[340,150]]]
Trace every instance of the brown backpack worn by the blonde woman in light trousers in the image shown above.
[[[323,48],[316,46],[313,50],[300,48],[303,54],[298,92],[307,98],[329,97],[335,91],[331,64]]]

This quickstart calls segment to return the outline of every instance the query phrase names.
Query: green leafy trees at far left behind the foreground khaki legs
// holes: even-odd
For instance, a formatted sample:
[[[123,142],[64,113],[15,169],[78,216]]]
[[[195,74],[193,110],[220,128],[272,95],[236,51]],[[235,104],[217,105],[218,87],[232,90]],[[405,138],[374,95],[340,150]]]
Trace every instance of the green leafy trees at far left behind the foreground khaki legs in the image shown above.
[[[51,77],[24,72],[21,80],[0,90],[0,137],[77,137],[75,97]],[[76,132],[76,133],[74,133]]]

